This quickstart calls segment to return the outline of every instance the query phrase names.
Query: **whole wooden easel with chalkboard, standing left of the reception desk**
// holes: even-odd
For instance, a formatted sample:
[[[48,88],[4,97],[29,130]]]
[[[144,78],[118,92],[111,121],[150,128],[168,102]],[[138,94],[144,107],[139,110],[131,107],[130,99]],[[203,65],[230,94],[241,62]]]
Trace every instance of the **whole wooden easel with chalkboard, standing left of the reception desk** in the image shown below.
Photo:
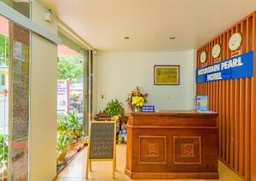
[[[113,178],[116,169],[116,122],[92,121],[89,129],[89,144],[86,162],[85,178],[88,178],[88,170],[91,161],[113,161]]]

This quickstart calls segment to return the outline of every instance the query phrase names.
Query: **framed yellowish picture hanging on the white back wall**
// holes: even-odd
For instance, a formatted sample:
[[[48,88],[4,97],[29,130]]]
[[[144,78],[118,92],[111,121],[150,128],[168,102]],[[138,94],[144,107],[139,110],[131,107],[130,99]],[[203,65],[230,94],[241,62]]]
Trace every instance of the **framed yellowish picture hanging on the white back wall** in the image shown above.
[[[154,85],[179,85],[179,65],[154,65]]]

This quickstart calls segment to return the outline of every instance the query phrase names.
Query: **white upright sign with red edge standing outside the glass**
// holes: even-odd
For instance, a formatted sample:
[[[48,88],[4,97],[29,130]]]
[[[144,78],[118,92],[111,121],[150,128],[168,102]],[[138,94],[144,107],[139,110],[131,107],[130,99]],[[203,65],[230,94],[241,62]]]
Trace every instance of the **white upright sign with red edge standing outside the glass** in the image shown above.
[[[69,112],[69,87],[67,80],[57,82],[57,112],[66,115]]]

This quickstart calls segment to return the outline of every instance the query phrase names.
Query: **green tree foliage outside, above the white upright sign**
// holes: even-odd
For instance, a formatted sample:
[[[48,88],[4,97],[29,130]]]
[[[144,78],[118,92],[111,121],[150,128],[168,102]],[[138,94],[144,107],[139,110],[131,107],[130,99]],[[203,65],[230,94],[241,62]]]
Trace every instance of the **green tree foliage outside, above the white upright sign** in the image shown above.
[[[58,79],[79,79],[83,75],[83,63],[80,55],[58,57]]]

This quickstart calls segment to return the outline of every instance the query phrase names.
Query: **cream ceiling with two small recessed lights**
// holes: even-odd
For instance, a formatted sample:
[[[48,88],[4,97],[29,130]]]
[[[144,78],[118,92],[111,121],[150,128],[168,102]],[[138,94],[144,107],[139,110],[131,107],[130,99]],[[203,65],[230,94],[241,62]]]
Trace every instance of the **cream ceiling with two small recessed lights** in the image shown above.
[[[199,48],[247,14],[255,0],[41,0],[102,51]],[[125,40],[124,37],[130,37]],[[176,37],[170,40],[170,37]]]

